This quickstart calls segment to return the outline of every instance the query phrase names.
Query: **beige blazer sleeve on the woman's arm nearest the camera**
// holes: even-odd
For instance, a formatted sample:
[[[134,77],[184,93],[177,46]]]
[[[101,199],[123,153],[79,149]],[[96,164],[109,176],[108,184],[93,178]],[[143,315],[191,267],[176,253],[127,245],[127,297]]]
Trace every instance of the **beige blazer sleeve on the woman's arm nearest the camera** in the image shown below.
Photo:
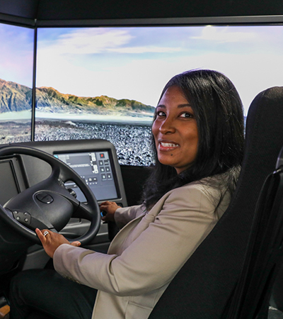
[[[211,198],[200,186],[175,189],[156,204],[156,209],[160,208],[157,216],[151,214],[154,206],[141,219],[137,227],[144,230],[122,254],[101,254],[64,244],[54,253],[54,267],[63,276],[117,296],[139,296],[160,289],[216,224]]]

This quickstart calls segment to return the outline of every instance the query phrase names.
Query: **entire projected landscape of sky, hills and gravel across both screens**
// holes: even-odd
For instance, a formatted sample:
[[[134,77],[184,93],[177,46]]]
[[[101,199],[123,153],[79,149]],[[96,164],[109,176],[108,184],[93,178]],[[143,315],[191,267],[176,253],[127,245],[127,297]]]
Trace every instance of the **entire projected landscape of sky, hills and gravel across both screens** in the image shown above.
[[[0,142],[30,140],[33,30],[0,25]],[[104,138],[120,164],[150,165],[163,86],[216,69],[253,98],[283,86],[283,26],[38,28],[35,140]]]

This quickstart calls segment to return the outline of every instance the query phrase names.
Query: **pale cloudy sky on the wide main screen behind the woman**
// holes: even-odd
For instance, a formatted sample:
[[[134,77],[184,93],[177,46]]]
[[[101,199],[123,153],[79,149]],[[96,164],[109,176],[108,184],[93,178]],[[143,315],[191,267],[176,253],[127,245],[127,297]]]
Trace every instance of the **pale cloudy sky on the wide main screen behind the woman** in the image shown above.
[[[226,74],[247,109],[283,85],[283,26],[52,28],[38,30],[37,86],[156,106],[163,86],[187,69]]]

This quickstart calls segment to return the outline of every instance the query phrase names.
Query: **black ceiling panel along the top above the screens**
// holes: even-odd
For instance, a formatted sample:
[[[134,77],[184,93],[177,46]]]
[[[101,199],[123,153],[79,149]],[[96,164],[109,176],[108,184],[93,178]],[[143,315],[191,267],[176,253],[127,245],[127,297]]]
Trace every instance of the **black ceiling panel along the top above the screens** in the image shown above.
[[[2,21],[3,15],[33,21],[83,21],[282,14],[282,0],[0,0]]]

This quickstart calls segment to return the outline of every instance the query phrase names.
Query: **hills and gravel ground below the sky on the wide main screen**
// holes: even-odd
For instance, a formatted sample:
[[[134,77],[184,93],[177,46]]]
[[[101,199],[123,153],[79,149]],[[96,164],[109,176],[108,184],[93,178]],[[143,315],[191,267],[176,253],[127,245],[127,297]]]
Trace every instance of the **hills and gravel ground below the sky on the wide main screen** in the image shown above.
[[[61,94],[47,87],[36,93],[35,140],[102,138],[115,145],[120,164],[151,164],[153,106],[108,96]]]

